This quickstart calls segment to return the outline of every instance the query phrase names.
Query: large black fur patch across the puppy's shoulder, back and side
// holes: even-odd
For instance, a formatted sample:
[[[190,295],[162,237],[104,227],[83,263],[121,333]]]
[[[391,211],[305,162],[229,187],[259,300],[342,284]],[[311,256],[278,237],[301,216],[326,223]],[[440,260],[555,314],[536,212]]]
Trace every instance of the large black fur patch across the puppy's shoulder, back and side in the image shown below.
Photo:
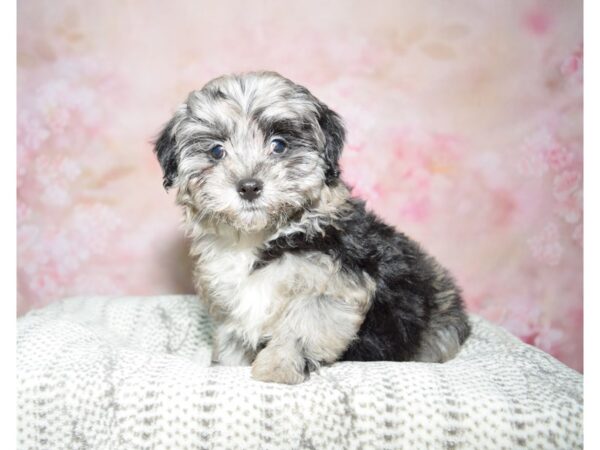
[[[422,333],[437,312],[434,296],[448,289],[457,292],[448,313],[458,316],[455,322],[460,324],[457,331],[462,343],[469,334],[469,325],[450,275],[416,242],[366,211],[362,201],[351,199],[349,203],[351,212],[324,224],[324,235],[298,232],[268,242],[254,268],[258,270],[286,253],[316,251],[339,261],[342,270],[353,276],[363,277],[364,271],[376,282],[372,306],[358,339],[340,360],[413,359]]]

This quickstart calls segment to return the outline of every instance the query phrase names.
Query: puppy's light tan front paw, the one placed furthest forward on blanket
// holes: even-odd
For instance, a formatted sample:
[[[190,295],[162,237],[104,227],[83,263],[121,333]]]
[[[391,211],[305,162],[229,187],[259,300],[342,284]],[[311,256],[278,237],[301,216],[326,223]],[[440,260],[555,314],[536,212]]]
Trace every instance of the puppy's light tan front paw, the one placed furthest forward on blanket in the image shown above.
[[[265,347],[252,363],[252,378],[267,383],[302,383],[304,358],[294,352]]]

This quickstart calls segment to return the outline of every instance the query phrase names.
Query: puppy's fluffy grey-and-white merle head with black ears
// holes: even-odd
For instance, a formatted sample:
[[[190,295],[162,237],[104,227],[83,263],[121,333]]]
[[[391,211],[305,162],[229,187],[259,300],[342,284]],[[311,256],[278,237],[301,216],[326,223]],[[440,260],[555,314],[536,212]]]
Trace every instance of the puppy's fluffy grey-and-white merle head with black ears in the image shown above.
[[[337,182],[339,116],[272,72],[193,91],[156,141],[164,186],[202,219],[245,231],[280,226]]]

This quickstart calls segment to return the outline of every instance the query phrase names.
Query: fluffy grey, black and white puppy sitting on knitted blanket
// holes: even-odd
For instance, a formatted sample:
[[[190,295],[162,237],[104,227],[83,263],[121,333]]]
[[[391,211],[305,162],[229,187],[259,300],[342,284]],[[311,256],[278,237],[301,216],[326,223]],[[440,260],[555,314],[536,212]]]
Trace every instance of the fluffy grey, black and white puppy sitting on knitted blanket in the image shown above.
[[[443,362],[469,335],[448,272],[351,197],[344,136],[306,88],[257,72],[193,91],[157,139],[215,362],[294,384],[334,361]]]

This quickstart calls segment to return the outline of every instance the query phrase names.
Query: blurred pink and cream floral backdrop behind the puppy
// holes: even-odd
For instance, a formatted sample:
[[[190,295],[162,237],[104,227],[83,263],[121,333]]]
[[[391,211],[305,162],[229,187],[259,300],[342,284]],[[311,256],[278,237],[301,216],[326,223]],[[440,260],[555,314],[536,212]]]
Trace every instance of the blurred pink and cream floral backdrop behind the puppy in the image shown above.
[[[19,314],[191,292],[150,142],[270,69],[345,118],[345,179],[472,312],[583,370],[582,64],[580,1],[20,1]]]

